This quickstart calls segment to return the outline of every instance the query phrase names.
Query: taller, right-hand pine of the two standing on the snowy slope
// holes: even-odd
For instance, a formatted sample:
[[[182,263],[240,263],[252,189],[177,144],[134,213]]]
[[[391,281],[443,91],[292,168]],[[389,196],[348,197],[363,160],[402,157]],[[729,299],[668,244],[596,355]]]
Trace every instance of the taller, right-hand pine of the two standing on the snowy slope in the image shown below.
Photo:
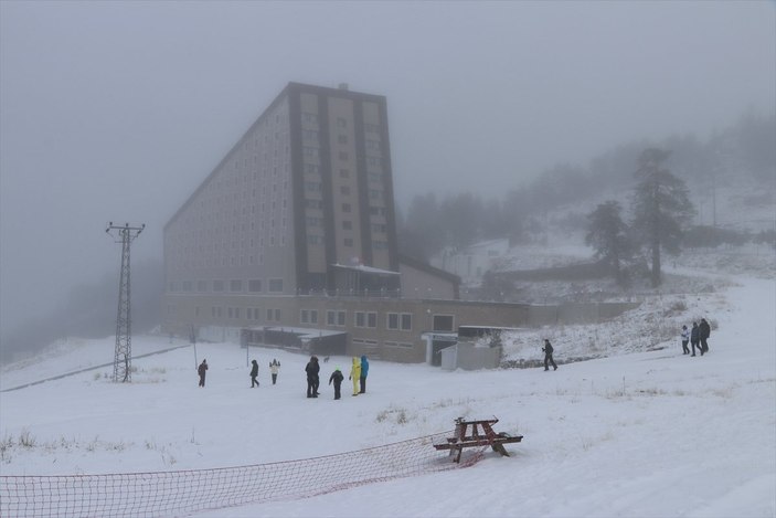
[[[684,181],[665,167],[669,155],[670,151],[662,149],[645,149],[636,170],[639,182],[634,192],[633,228],[639,243],[651,253],[652,287],[662,281],[661,250],[670,254],[679,252],[683,226],[695,212]]]

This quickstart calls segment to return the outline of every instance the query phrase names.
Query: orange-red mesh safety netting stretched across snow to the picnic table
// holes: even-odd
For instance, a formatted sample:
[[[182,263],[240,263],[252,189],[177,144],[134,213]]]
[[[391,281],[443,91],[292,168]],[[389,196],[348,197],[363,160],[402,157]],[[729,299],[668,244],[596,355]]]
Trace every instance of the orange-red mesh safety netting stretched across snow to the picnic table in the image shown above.
[[[322,457],[251,466],[105,475],[0,476],[3,517],[163,517],[322,495],[392,478],[468,467],[433,445],[450,432]]]

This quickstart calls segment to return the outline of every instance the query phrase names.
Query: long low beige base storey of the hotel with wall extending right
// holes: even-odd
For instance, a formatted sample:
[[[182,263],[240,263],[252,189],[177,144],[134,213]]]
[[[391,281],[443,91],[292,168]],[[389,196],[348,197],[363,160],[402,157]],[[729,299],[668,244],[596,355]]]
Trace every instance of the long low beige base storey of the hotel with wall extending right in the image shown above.
[[[634,303],[527,304],[471,300],[402,299],[346,296],[166,296],[163,330],[189,337],[192,327],[200,340],[240,343],[240,329],[294,327],[347,334],[348,356],[366,355],[387,361],[426,361],[424,334],[457,332],[460,326],[538,327],[596,323],[637,307]],[[214,316],[220,308],[220,317]],[[232,309],[232,317],[228,309]],[[329,320],[329,313],[338,317]],[[315,315],[315,318],[312,318]],[[272,318],[269,318],[272,317]],[[341,319],[339,318],[341,317]],[[361,321],[359,321],[361,319]],[[368,320],[368,321],[364,321]],[[396,326],[396,319],[401,323]],[[434,323],[445,323],[444,329]],[[460,366],[460,361],[459,366]],[[467,363],[468,364],[468,363]]]

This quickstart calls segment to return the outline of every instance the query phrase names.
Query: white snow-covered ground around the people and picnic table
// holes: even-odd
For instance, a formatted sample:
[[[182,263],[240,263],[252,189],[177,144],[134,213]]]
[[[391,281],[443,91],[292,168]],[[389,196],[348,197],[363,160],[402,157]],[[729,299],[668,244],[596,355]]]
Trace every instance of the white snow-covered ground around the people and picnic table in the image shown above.
[[[253,516],[776,516],[776,283],[711,278],[719,289],[645,304],[599,326],[544,328],[508,343],[509,358],[540,359],[549,336],[561,360],[543,368],[445,372],[371,361],[368,393],[305,398],[308,358],[134,337],[132,383],[111,367],[114,338],[59,343],[0,376],[0,474],[179,471],[310,458],[451,430],[458,416],[498,416],[519,433],[512,454],[474,467],[273,501],[201,517]],[[678,298],[677,298],[678,297]],[[684,306],[677,305],[682,300]],[[681,353],[678,324],[705,316],[710,353]],[[672,336],[653,343],[656,328]],[[674,329],[676,328],[676,329]],[[534,340],[535,339],[535,340]],[[647,342],[649,342],[647,345]],[[155,350],[184,346],[140,357]],[[600,358],[563,363],[572,356]],[[196,387],[196,361],[210,363]],[[267,363],[281,362],[272,385]],[[22,444],[23,443],[23,444]],[[444,456],[444,453],[439,453]]]

